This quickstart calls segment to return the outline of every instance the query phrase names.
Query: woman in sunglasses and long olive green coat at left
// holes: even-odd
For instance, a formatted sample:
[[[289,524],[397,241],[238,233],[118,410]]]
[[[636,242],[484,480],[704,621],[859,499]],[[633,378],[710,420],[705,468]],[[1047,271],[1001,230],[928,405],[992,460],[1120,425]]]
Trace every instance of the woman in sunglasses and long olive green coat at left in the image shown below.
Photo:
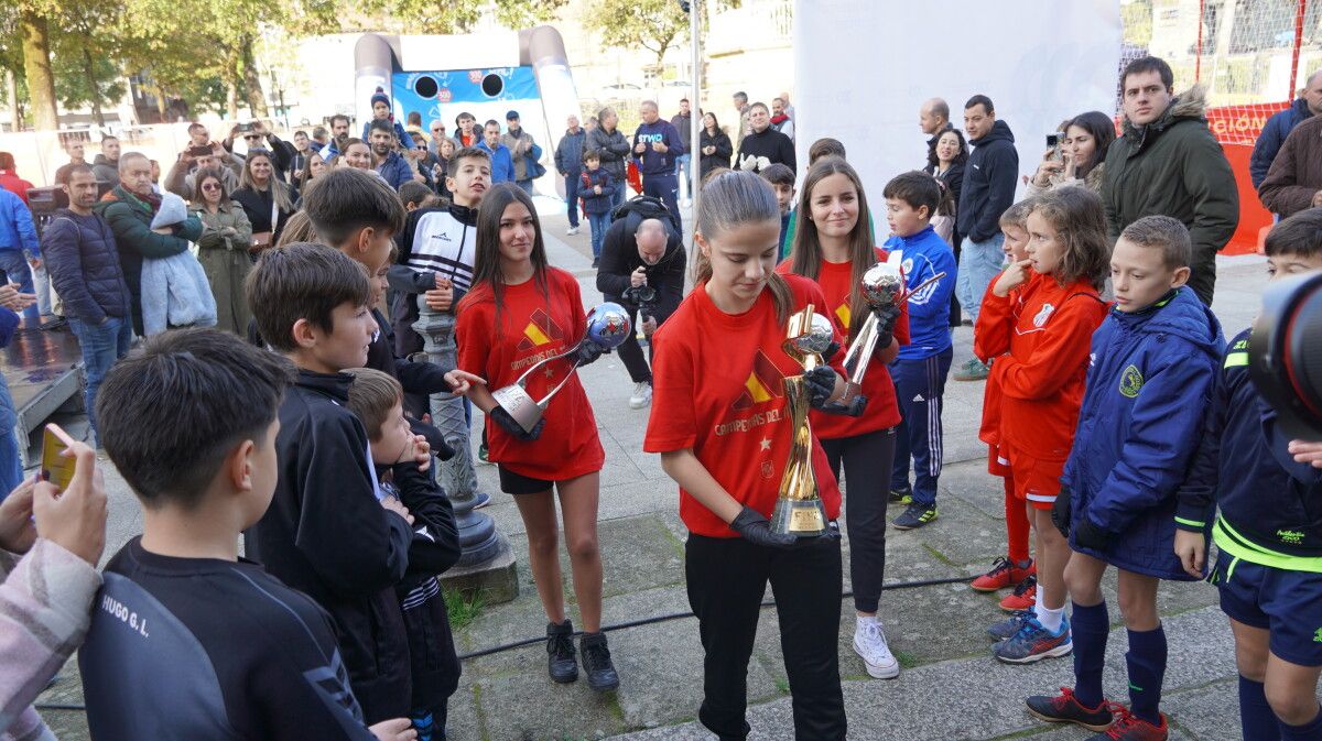
[[[202,221],[197,240],[197,260],[215,297],[215,328],[243,337],[253,313],[243,296],[243,280],[253,269],[253,225],[243,206],[225,192],[225,178],[215,168],[193,174],[194,192],[189,210]]]

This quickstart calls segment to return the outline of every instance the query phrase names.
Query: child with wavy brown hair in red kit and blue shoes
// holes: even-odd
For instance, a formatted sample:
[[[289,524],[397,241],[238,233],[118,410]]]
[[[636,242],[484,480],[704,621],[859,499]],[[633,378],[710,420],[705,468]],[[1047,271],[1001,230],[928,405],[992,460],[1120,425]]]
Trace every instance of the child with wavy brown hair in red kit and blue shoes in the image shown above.
[[[1029,256],[992,284],[973,330],[993,361],[988,382],[1001,388],[1001,456],[1036,535],[1036,604],[992,627],[1007,638],[992,654],[1009,663],[1073,650],[1064,616],[1069,544],[1051,523],[1051,507],[1073,445],[1092,333],[1107,317],[1097,292],[1110,269],[1101,198],[1091,190],[1038,197],[1027,227]]]

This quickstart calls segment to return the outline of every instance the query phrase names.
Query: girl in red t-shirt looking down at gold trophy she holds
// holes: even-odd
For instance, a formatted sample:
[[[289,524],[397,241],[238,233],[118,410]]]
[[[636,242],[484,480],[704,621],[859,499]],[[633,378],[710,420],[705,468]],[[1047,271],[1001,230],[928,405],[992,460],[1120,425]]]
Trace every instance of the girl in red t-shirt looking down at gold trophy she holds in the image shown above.
[[[808,304],[826,306],[826,299],[813,281],[773,271],[780,209],[756,174],[707,181],[694,240],[697,287],[653,335],[653,412],[642,449],[661,453],[661,466],[680,483],[685,579],[705,651],[698,719],[722,738],[748,734],[748,656],[771,581],[795,737],[845,738],[838,530],[832,522],[826,535],[797,540],[768,527],[791,452],[784,379],[804,374],[781,347],[785,321]],[[805,380],[814,408],[845,391],[829,366]],[[839,489],[816,437],[812,462],[834,520]]]

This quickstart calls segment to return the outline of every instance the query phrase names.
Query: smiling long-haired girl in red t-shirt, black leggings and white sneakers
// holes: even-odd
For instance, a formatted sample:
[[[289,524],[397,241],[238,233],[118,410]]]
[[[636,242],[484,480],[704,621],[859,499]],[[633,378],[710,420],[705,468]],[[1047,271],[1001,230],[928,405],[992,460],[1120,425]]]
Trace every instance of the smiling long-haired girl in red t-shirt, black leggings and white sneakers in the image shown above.
[[[817,281],[826,296],[822,313],[853,342],[871,310],[859,293],[859,281],[867,268],[886,259],[886,251],[873,246],[867,197],[854,168],[836,157],[818,160],[804,181],[798,214],[808,218],[800,218],[791,258],[777,271]],[[886,572],[886,498],[900,411],[886,363],[895,359],[902,342],[908,342],[908,316],[902,305],[879,313],[878,320],[880,337],[862,384],[867,413],[849,417],[816,412],[812,421],[832,472],[838,477],[843,465],[850,483],[845,524],[857,613],[854,651],[863,658],[867,674],[891,679],[899,675],[900,664],[886,645],[876,606]]]

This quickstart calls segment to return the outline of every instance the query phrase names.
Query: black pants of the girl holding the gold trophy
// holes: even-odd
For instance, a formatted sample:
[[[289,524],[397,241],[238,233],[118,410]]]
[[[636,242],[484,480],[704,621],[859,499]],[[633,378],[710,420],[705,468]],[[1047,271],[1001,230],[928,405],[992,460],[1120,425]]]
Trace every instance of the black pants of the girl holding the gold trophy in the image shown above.
[[[795,738],[845,738],[838,655],[839,540],[821,538],[779,549],[752,546],[742,538],[690,534],[683,568],[705,651],[698,711],[702,725],[722,741],[748,737],[748,658],[769,580],[789,675]]]

